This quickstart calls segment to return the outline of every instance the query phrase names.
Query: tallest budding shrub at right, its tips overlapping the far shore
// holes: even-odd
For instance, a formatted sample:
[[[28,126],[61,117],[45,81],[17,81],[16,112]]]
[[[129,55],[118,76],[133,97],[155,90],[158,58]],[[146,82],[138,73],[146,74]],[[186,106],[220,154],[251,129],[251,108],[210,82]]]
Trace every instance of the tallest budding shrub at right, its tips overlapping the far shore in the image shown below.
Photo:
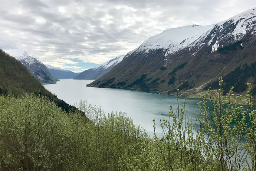
[[[247,127],[244,108],[238,106],[239,97],[232,104],[232,89],[226,97],[223,97],[222,78],[220,78],[218,93],[215,97],[211,95],[210,101],[213,112],[206,104],[204,94],[203,101],[198,104],[201,117],[196,115],[202,130],[210,144],[211,154],[218,163],[214,168],[218,170],[242,170],[247,159],[246,145],[243,143],[244,128]]]

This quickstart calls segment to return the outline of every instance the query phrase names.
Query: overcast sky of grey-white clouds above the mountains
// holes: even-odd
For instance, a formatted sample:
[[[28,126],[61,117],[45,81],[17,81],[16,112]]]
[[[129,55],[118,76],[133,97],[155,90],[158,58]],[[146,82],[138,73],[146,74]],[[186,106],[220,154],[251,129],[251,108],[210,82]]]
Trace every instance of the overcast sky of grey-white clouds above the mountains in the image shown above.
[[[209,25],[255,0],[0,0],[0,47],[83,71],[168,28]]]

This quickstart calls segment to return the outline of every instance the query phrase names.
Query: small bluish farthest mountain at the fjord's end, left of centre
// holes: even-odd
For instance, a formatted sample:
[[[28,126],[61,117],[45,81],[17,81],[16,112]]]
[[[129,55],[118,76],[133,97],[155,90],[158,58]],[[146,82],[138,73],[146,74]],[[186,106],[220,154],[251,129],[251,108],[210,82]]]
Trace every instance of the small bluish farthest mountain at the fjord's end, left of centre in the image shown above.
[[[53,77],[58,78],[58,79],[74,78],[75,76],[78,75],[77,73],[74,73],[72,71],[53,67],[49,64],[45,64],[45,66],[50,71],[50,73],[53,75]]]

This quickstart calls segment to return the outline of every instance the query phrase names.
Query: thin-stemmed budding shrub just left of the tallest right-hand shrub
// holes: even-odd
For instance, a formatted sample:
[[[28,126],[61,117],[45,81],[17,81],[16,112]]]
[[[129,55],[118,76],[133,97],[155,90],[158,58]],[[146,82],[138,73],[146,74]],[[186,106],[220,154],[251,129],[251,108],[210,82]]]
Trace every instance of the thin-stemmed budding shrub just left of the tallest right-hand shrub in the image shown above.
[[[196,131],[192,120],[186,118],[185,103],[186,99],[180,107],[177,95],[177,113],[174,113],[170,106],[169,118],[160,119],[161,137],[157,137],[155,133],[155,120],[153,120],[155,156],[158,157],[159,170],[210,170],[209,164],[213,156],[207,154],[204,134]]]

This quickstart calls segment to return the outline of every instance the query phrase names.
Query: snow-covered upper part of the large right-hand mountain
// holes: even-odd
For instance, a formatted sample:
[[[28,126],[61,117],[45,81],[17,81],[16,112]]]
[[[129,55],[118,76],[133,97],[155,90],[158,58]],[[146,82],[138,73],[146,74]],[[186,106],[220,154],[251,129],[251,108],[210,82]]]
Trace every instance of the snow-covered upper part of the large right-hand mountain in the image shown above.
[[[196,24],[184,27],[170,28],[160,34],[152,36],[144,41],[138,48],[130,51],[132,53],[143,52],[147,54],[150,50],[163,49],[165,60],[175,52],[184,48],[193,49],[194,53],[204,46],[211,46],[211,52],[220,46],[232,44],[248,33],[256,32],[256,8],[244,11],[225,21],[209,26]],[[226,43],[226,44],[225,44]]]

